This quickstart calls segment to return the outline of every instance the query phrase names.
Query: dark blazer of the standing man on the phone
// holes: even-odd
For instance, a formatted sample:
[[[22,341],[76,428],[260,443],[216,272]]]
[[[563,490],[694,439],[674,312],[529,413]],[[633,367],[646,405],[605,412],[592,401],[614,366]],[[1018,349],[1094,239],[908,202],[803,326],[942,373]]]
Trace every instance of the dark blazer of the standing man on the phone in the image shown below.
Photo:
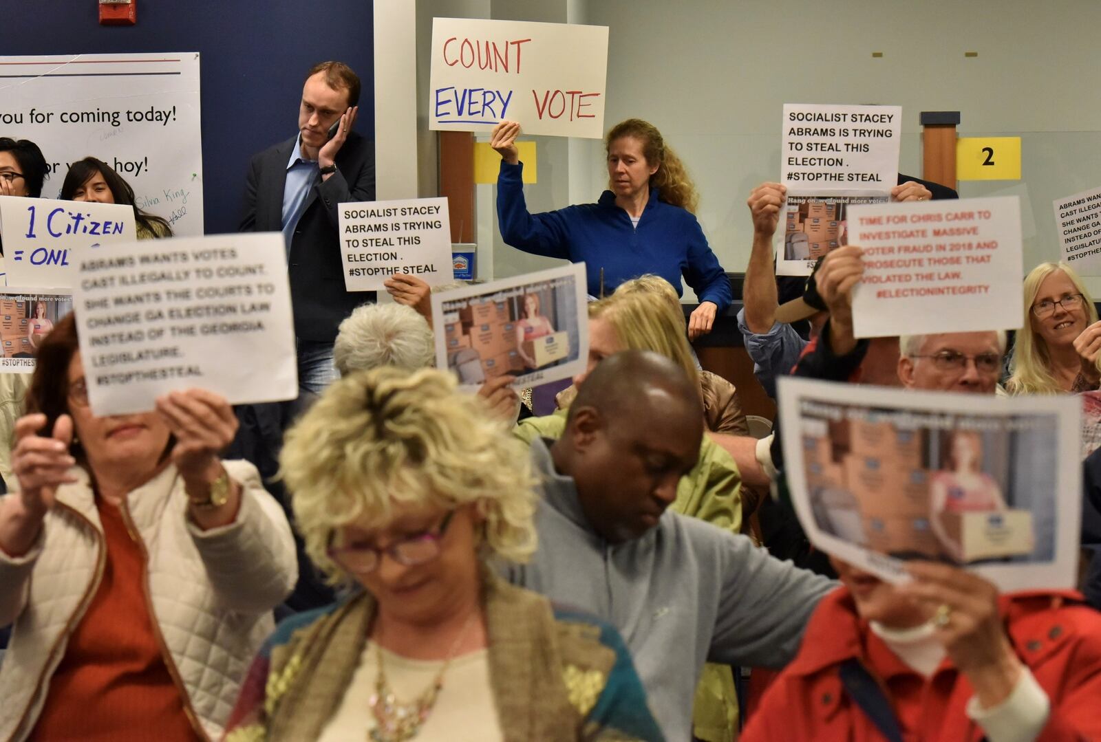
[[[277,232],[283,228],[283,187],[286,162],[296,138],[252,157],[246,181],[242,232]],[[374,200],[374,144],[356,132],[337,153],[337,172],[318,177],[306,197],[306,208],[291,240],[287,268],[294,332],[299,340],[333,342],[340,321],[373,292],[345,291],[340,262],[337,204]]]

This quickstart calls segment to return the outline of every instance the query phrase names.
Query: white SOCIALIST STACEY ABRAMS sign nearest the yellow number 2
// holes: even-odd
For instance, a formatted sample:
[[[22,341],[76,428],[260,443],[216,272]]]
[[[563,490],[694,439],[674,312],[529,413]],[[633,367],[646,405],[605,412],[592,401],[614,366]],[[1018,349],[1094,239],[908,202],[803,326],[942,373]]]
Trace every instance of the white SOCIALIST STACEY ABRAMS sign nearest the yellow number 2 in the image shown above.
[[[887,193],[897,185],[902,107],[785,103],[783,126],[784,185]]]

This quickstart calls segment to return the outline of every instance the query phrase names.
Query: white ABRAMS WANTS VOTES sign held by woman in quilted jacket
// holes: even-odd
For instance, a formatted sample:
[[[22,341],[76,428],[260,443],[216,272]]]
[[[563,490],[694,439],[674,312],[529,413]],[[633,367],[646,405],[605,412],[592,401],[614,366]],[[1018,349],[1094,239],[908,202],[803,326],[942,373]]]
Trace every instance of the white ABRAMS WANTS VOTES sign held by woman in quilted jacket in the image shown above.
[[[77,263],[74,304],[96,415],[200,388],[231,404],[298,394],[280,232],[103,245]]]

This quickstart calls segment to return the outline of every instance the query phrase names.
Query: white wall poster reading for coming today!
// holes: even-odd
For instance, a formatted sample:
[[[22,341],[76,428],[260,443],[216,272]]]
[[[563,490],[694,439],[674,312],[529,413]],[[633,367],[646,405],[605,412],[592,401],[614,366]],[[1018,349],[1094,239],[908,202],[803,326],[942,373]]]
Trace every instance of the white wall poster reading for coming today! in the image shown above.
[[[203,233],[197,52],[2,56],[0,133],[42,149],[46,198],[91,155],[176,234]]]

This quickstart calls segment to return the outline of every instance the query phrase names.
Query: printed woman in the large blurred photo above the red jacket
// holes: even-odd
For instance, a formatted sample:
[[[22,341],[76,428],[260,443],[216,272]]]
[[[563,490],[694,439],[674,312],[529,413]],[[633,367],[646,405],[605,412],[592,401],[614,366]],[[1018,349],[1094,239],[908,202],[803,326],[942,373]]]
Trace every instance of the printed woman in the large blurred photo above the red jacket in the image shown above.
[[[1002,488],[982,470],[982,435],[978,430],[948,434],[950,469],[937,471],[929,482],[933,532],[957,560],[963,547],[945,525],[946,514],[990,513],[1005,510]]]

